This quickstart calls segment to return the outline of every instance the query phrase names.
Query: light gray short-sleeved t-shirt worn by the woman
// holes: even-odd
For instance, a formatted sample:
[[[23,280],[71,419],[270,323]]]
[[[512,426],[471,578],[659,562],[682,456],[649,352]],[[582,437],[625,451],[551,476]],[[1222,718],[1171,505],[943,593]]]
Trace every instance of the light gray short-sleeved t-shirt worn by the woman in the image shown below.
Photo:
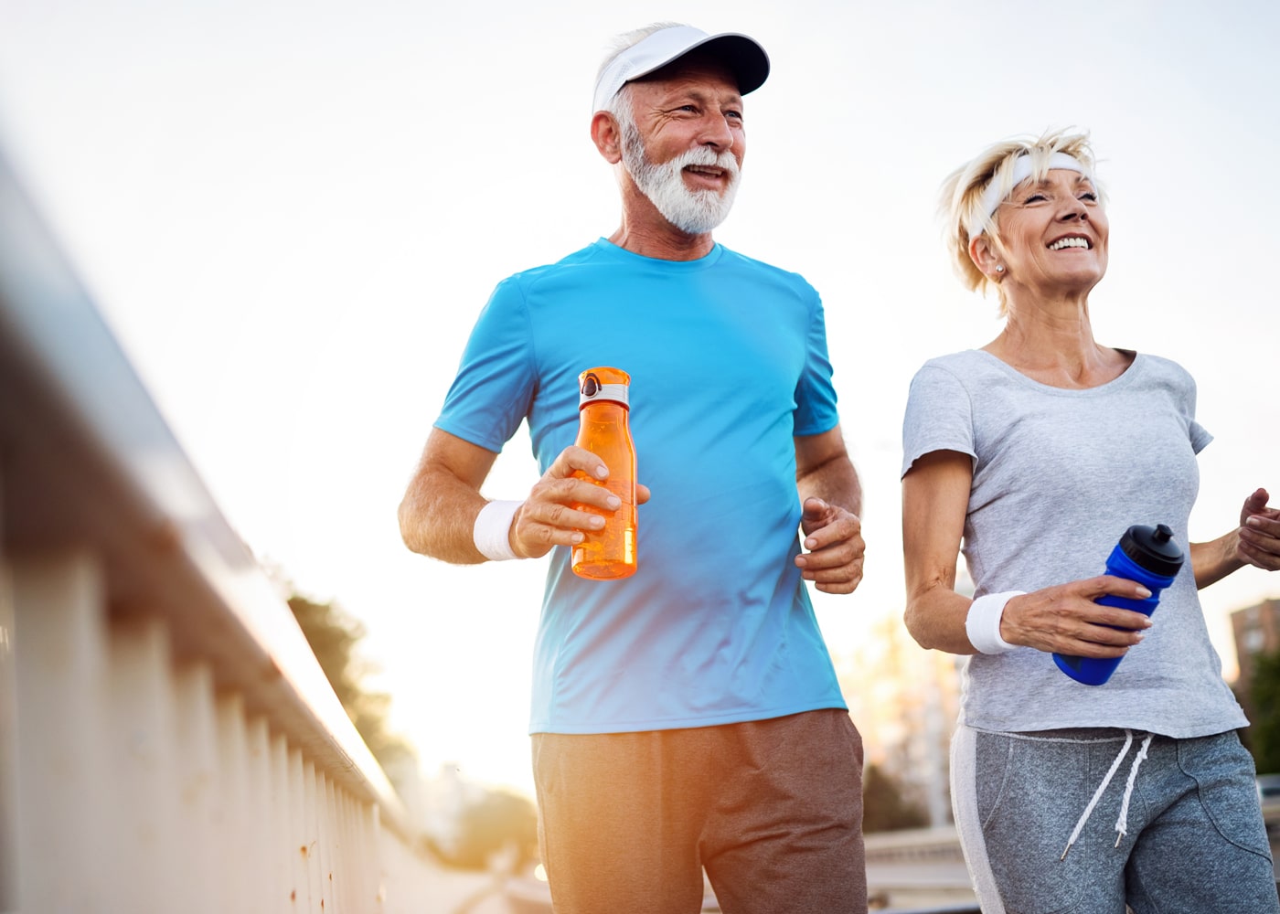
[[[1138,355],[1115,380],[1068,390],[973,349],[933,358],[913,379],[902,475],[933,451],[973,457],[961,552],[975,595],[1029,593],[1105,573],[1133,524],[1167,524],[1185,552],[1199,488],[1196,454],[1210,440],[1196,421],[1196,381],[1166,358]],[[1034,648],[972,657],[960,722],[1174,737],[1245,726],[1222,681],[1189,558],[1152,622],[1101,686],[1075,682]]]

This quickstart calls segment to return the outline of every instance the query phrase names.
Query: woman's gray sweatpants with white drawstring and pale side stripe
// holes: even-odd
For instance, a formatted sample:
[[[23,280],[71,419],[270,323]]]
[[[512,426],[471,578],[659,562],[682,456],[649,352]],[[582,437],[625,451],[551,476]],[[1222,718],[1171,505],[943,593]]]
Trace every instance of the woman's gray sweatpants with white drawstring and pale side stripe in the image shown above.
[[[1253,778],[1234,731],[961,727],[951,749],[983,914],[1276,914]]]

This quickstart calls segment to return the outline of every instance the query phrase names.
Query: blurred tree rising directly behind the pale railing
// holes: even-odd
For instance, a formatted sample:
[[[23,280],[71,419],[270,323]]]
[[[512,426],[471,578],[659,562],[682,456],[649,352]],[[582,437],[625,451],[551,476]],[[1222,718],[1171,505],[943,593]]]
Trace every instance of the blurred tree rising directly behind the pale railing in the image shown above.
[[[298,621],[307,644],[320,661],[320,668],[329,678],[347,717],[356,725],[369,751],[383,768],[413,755],[413,749],[402,737],[387,728],[387,712],[392,698],[385,693],[369,693],[361,681],[376,668],[356,657],[355,649],[365,636],[365,627],[351,618],[334,603],[315,603],[305,597],[289,597],[289,609]]]

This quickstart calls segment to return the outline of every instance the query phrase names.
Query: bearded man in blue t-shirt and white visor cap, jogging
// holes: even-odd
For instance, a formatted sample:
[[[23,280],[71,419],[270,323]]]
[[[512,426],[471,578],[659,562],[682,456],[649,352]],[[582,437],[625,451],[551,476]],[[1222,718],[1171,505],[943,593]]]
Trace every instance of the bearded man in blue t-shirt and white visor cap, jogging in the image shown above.
[[[726,250],[741,35],[653,26],[602,68],[591,137],[617,169],[607,241],[503,280],[401,504],[415,552],[552,553],[534,661],[534,773],[557,911],[864,911],[861,741],[805,580],[852,593],[861,493],[841,438],[818,294]],[[573,544],[618,507],[573,447],[577,375],[631,375],[639,570],[579,579]],[[529,422],[543,477],[480,494]],[[652,498],[650,498],[652,490]],[[804,533],[803,544],[796,535]]]

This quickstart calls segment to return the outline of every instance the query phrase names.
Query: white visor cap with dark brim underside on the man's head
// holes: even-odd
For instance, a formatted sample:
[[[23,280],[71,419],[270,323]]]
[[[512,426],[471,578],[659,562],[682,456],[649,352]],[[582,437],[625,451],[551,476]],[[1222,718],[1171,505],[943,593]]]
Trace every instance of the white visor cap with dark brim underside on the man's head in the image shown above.
[[[728,67],[742,95],[758,90],[769,76],[769,55],[754,38],[737,32],[707,35],[692,26],[672,26],[641,38],[600,70],[591,114],[607,109],[618,90],[632,79],[662,69],[698,47],[707,49]]]

